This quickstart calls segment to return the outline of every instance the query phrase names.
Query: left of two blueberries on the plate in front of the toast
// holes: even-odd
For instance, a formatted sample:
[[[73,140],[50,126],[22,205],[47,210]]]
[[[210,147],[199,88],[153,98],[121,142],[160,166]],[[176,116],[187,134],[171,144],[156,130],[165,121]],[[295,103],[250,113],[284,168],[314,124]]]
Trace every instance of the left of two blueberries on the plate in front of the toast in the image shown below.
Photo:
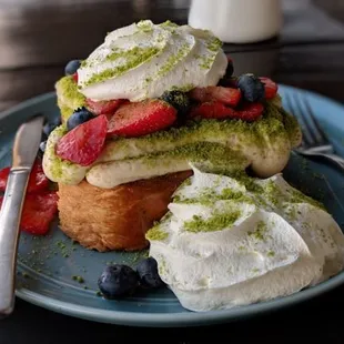
[[[128,296],[139,286],[139,275],[128,265],[109,265],[100,275],[98,286],[105,299]]]

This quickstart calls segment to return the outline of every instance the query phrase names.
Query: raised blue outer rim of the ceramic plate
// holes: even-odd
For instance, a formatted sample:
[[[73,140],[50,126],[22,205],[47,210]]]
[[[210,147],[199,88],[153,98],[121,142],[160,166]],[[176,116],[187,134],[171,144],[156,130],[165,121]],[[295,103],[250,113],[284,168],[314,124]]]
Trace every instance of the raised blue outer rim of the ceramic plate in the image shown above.
[[[281,91],[302,92],[310,94],[327,103],[332,103],[344,109],[344,104],[331,99],[324,94],[316,93],[311,90],[296,88],[279,83]],[[48,99],[55,98],[55,91],[42,93],[28,100],[24,100],[10,109],[0,112],[0,121],[7,120],[10,115],[18,111],[23,111],[30,105],[40,103]],[[335,287],[344,284],[344,271],[322,282],[318,285],[307,287],[289,296],[279,297],[272,301],[239,306],[229,310],[209,311],[209,312],[176,312],[176,313],[146,313],[146,312],[124,312],[110,311],[98,307],[90,307],[60,301],[50,296],[42,295],[34,291],[21,287],[16,289],[16,296],[31,304],[47,308],[57,313],[69,316],[84,318],[94,322],[112,323],[129,326],[148,326],[148,327],[175,327],[175,326],[199,326],[212,325],[231,322],[237,318],[247,318],[266,312],[274,312],[287,306],[293,306],[302,302],[312,300],[315,296],[323,295]]]

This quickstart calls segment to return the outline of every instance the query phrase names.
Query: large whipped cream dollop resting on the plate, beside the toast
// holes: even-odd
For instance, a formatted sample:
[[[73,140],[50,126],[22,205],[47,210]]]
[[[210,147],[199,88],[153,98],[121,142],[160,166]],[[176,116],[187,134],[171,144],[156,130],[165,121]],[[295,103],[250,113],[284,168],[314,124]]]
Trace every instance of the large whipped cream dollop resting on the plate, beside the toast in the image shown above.
[[[282,174],[233,179],[193,170],[146,233],[161,279],[185,308],[286,296],[343,270],[340,226]]]

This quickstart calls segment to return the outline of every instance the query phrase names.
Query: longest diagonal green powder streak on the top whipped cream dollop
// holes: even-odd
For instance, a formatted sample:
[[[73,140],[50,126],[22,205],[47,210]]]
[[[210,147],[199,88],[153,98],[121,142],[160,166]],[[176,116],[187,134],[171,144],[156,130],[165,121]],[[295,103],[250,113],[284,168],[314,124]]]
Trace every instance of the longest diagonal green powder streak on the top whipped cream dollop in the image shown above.
[[[118,52],[114,52],[112,55],[110,55],[110,59],[113,61],[113,60],[121,58],[124,60],[123,63],[115,65],[113,68],[109,68],[100,73],[93,74],[84,85],[91,85],[91,84],[102,82],[111,78],[120,77],[127,71],[133,68],[136,68],[138,65],[144,62],[150,61],[161,50],[156,47],[151,47],[151,48],[135,47],[132,50],[121,52],[121,55],[118,55]]]

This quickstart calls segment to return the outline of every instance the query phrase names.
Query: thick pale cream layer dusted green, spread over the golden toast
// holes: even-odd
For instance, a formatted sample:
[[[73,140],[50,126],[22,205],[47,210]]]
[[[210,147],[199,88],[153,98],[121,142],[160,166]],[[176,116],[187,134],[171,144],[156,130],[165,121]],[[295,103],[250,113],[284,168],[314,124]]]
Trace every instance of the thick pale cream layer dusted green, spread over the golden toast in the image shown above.
[[[103,189],[190,170],[190,163],[225,174],[251,166],[256,175],[270,176],[283,170],[301,139],[295,119],[273,101],[266,104],[263,119],[253,123],[204,120],[142,138],[108,141],[99,159],[84,168],[57,156],[53,145],[62,128],[48,139],[47,176],[63,184],[78,184],[85,178]]]

